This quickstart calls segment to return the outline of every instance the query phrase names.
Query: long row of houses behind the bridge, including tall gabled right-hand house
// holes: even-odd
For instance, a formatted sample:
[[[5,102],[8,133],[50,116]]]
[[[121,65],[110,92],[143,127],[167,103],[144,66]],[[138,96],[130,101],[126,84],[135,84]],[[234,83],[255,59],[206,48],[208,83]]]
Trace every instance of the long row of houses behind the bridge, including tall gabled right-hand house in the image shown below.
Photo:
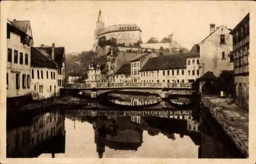
[[[219,76],[223,70],[233,70],[233,61],[230,60],[230,31],[231,29],[224,25],[216,28],[215,24],[210,24],[209,35],[195,44],[189,52],[169,55],[160,52],[144,53],[123,63],[115,70],[114,79],[111,80],[107,78],[108,70],[117,68],[117,62],[108,60],[106,70],[91,63],[86,83],[193,83],[207,72]],[[113,59],[111,54],[110,58]],[[98,77],[104,77],[104,80]]]

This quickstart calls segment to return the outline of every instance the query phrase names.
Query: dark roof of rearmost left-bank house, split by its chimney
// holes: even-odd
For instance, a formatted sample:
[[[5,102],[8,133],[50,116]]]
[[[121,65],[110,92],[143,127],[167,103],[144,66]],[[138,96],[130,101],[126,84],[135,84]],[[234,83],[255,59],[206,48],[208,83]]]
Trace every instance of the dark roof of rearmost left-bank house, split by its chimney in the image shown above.
[[[37,47],[39,50],[45,51],[49,56],[52,54],[52,47]],[[65,47],[54,47],[54,61],[58,66],[62,66],[63,58],[65,58]]]

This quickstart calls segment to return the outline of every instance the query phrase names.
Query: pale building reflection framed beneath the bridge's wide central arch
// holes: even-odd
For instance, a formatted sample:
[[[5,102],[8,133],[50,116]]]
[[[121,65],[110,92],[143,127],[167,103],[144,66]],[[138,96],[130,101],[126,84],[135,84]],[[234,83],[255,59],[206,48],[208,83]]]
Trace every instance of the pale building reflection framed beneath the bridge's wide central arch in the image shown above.
[[[144,96],[144,95],[129,95],[129,94],[117,94],[110,93],[110,101],[115,104],[129,105],[129,106],[142,106],[155,104],[161,101],[160,96]]]

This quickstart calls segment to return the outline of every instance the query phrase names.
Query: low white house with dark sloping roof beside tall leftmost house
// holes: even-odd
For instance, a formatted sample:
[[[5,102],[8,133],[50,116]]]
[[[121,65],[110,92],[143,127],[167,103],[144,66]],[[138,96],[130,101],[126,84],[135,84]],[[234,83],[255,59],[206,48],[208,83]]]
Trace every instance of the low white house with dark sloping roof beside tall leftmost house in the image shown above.
[[[53,57],[31,48],[31,90],[34,100],[42,100],[57,95],[57,63]]]

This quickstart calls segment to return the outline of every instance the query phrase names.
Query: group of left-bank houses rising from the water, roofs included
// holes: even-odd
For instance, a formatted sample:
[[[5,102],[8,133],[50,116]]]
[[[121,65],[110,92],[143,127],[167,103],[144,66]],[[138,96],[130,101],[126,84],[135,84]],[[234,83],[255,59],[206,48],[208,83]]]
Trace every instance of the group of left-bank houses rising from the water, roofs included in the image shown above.
[[[7,20],[7,104],[58,96],[65,83],[65,48],[32,46],[30,21]]]

